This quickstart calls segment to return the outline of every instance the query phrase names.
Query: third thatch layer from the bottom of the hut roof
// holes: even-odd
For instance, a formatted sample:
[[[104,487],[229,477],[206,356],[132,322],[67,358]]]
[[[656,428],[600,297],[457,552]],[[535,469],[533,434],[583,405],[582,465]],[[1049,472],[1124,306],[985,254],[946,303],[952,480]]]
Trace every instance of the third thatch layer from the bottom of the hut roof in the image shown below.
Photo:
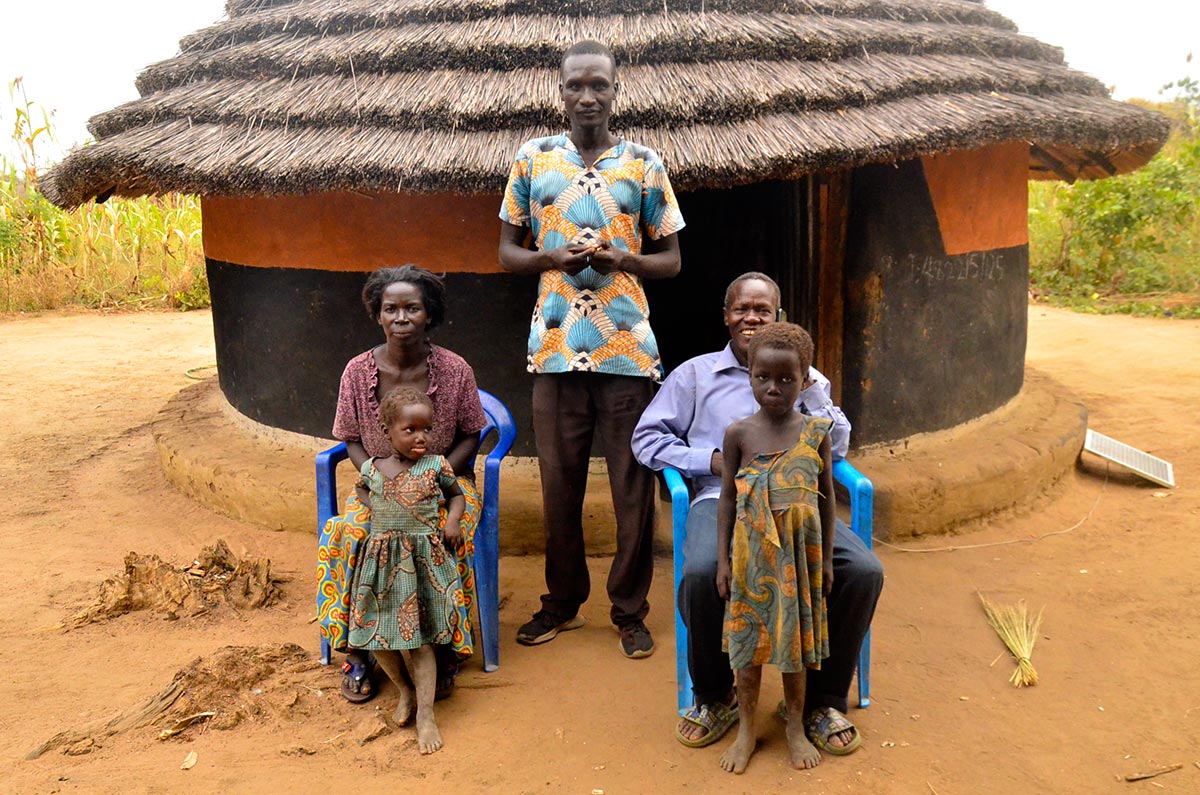
[[[581,37],[612,44],[624,64],[714,60],[836,60],[875,53],[959,53],[1061,62],[1058,48],[994,28],[784,13],[635,17],[490,17],[306,36],[269,32],[250,42],[187,52],[138,77],[145,95],[184,82],[274,74],[359,74],[438,68],[554,67]],[[352,66],[353,64],[353,66]]]

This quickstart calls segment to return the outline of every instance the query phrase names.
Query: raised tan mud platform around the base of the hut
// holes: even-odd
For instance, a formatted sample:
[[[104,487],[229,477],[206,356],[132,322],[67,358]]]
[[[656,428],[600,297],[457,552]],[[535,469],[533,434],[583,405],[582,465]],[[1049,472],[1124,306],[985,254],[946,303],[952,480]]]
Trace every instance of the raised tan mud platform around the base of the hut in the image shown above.
[[[876,488],[875,527],[884,538],[952,531],[962,522],[1031,502],[1073,466],[1087,412],[1055,381],[1027,371],[1020,394],[1000,410],[948,431],[851,453]],[[524,431],[528,432],[528,431]],[[167,478],[205,506],[271,527],[316,532],[313,456],[329,440],[260,425],[224,400],[216,379],[188,387],[154,423]],[[349,462],[338,468],[348,494]],[[544,551],[536,461],[511,458],[500,474],[500,551]],[[660,504],[655,548],[671,548],[670,508]],[[594,460],[584,503],[592,554],[613,549],[604,461]]]

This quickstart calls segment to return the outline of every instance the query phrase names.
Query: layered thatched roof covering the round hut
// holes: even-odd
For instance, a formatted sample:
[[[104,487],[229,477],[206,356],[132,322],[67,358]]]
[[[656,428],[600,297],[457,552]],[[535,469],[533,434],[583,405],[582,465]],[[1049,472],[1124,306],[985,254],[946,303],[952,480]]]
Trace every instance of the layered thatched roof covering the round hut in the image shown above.
[[[1163,116],[1114,102],[977,0],[229,0],[228,20],[91,120],[43,180],[95,196],[490,192],[562,127],[559,54],[622,64],[613,126],[677,189],[791,178],[1002,141],[1032,177],[1146,162]]]

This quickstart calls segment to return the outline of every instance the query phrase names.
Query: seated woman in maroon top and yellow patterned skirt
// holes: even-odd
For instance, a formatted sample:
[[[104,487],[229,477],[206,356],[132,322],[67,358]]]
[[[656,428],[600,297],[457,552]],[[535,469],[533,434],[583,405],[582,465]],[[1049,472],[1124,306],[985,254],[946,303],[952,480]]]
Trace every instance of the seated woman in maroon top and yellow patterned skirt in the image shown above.
[[[362,305],[383,329],[384,343],[350,359],[337,394],[334,437],[346,442],[355,470],[370,458],[394,454],[379,420],[379,401],[396,387],[413,387],[433,401],[431,455],[444,455],[458,476],[467,498],[462,518],[463,543],[457,549],[458,575],[467,606],[475,600],[472,561],[480,498],[470,462],[479,449],[479,432],[487,424],[479,402],[475,373],[462,357],[430,342],[427,333],[445,316],[445,285],[415,265],[382,268],[362,287]],[[445,520],[443,513],[442,520]],[[336,651],[347,651],[349,587],[359,546],[371,528],[371,510],[352,490],[341,516],[326,525],[328,542],[318,550],[317,588],[320,632]],[[461,636],[460,636],[461,635]],[[437,646],[438,695],[454,688],[458,660],[472,653],[469,628],[451,644]],[[368,660],[354,650],[342,667],[342,695],[353,703],[374,692]]]

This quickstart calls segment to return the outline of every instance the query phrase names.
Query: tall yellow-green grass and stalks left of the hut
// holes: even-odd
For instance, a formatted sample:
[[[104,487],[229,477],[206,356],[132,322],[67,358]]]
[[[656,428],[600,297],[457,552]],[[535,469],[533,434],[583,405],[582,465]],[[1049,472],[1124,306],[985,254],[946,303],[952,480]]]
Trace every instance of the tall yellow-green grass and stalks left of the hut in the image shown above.
[[[0,157],[0,312],[208,306],[199,199],[110,198],[60,210],[37,190],[49,118],[19,78],[8,94],[19,162]]]

